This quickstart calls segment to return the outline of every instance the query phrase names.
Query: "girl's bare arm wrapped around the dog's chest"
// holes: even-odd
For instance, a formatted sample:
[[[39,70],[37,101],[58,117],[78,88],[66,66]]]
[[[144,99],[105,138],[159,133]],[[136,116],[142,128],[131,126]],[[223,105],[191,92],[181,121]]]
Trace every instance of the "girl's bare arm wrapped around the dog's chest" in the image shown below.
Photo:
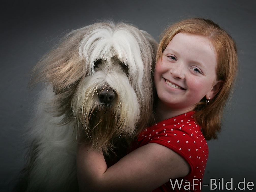
[[[190,171],[183,157],[156,143],[137,148],[109,168],[102,151],[90,148],[90,144],[78,144],[80,191],[151,191]]]

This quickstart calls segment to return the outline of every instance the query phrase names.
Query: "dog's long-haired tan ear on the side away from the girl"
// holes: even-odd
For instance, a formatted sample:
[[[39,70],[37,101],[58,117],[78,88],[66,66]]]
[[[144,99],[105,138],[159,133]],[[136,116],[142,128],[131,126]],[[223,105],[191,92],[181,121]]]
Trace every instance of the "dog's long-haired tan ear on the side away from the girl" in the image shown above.
[[[86,75],[86,61],[79,55],[79,44],[88,29],[71,31],[59,44],[50,50],[32,71],[30,87],[39,82],[53,88],[52,105],[55,115],[65,114],[63,121],[72,118],[71,102],[80,80]]]

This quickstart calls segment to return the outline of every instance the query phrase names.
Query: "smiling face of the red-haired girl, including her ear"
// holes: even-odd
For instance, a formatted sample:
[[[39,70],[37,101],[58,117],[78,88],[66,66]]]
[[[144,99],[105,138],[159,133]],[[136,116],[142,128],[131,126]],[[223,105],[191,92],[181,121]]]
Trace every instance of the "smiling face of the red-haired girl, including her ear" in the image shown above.
[[[203,36],[178,33],[156,64],[154,82],[159,102],[170,110],[194,110],[203,98],[212,99],[221,87],[216,81],[216,55]]]

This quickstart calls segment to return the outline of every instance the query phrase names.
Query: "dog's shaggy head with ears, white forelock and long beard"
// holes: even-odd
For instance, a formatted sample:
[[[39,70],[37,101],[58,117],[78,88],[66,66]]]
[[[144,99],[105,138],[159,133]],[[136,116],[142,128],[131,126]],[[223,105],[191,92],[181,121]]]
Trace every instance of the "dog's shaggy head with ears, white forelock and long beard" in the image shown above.
[[[127,24],[97,23],[72,31],[42,60],[63,123],[82,128],[94,147],[130,137],[152,117],[157,43]],[[105,146],[105,147],[104,147]]]

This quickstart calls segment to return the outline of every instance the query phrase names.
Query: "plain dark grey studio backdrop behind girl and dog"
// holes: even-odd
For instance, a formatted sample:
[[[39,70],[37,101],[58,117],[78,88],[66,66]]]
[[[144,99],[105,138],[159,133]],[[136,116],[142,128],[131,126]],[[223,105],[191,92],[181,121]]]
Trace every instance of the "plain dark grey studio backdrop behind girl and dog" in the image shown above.
[[[23,128],[37,93],[28,90],[29,70],[67,29],[98,19],[128,21],[158,40],[163,29],[179,19],[212,19],[236,40],[240,72],[236,91],[225,112],[218,140],[209,141],[204,184],[256,182],[255,163],[255,1],[7,1],[1,3],[0,48],[0,191],[12,188],[24,166]],[[10,183],[10,184],[9,184]],[[204,187],[203,191],[209,191]]]

